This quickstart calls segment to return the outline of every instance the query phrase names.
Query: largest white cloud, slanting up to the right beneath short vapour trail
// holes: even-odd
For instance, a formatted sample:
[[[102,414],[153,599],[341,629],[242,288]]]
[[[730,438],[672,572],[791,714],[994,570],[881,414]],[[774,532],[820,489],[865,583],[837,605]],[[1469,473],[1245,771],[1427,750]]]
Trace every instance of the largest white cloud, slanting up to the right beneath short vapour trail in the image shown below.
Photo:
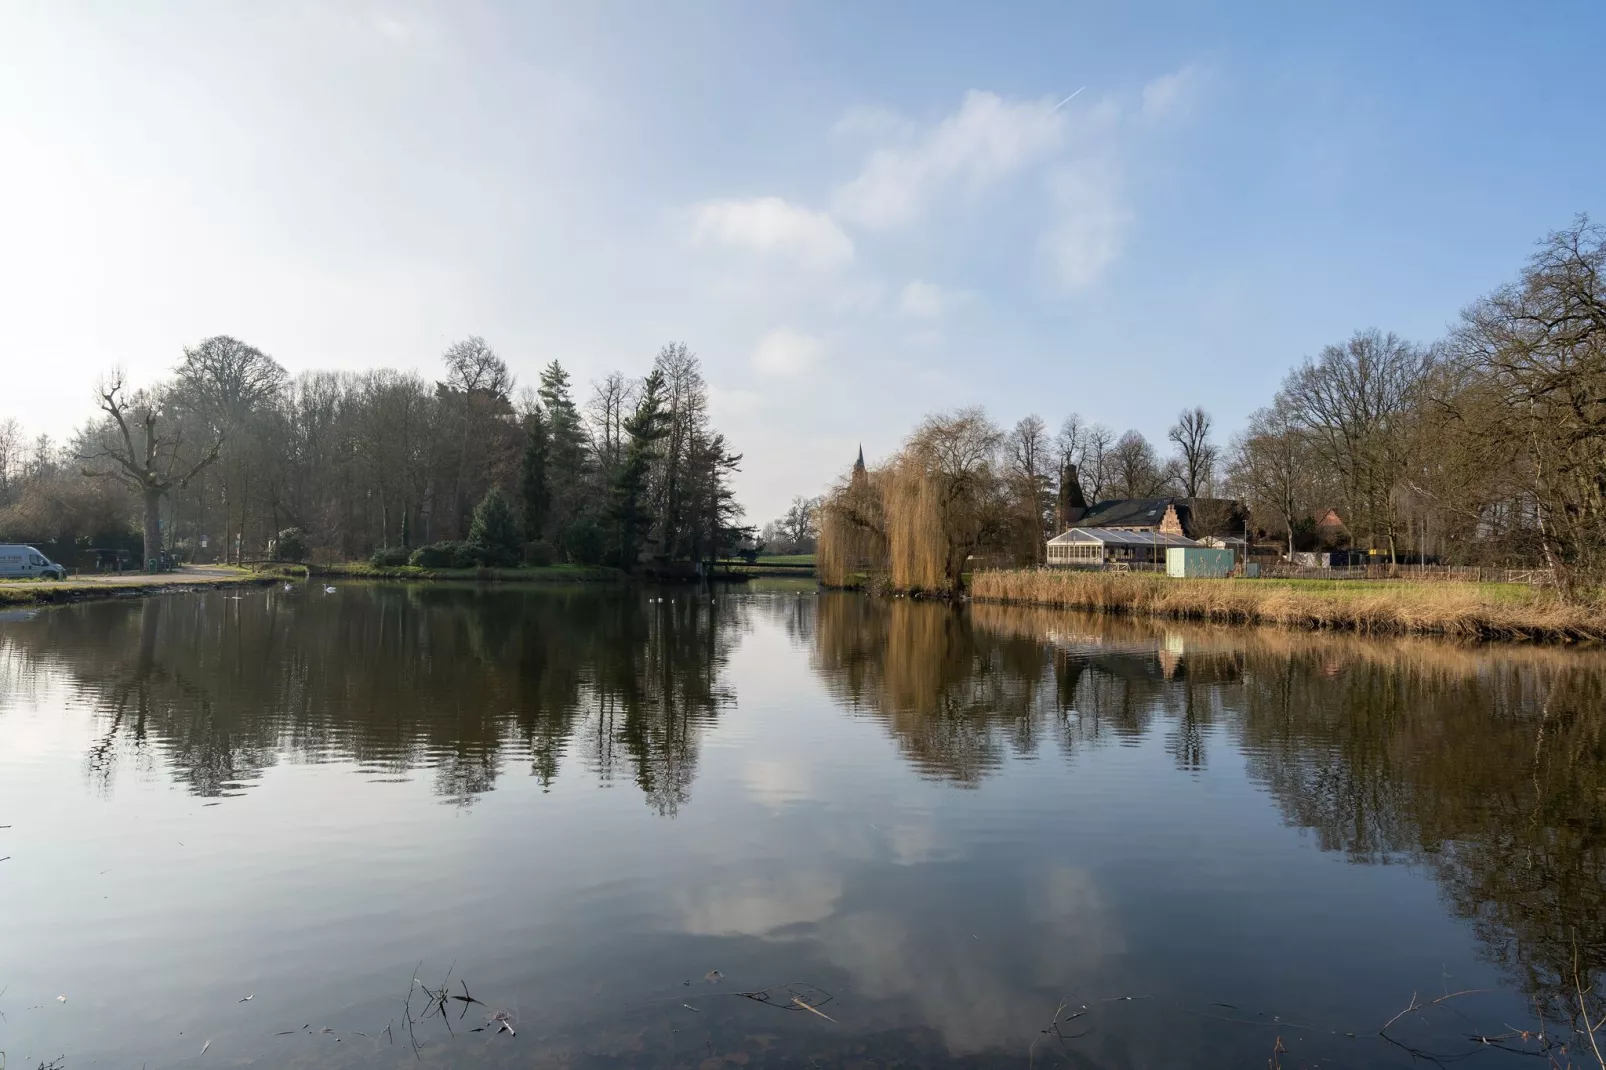
[[[972,90],[925,137],[872,153],[859,177],[837,190],[835,210],[862,227],[901,227],[949,186],[975,193],[1050,154],[1063,130],[1065,112],[1054,101]]]

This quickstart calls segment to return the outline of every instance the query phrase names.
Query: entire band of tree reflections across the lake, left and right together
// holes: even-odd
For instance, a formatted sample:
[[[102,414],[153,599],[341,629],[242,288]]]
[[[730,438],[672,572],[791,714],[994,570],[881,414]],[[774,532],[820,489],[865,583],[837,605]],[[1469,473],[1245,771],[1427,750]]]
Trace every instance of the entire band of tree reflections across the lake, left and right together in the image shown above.
[[[923,778],[1099,762],[1163,739],[1179,776],[1241,762],[1349,863],[1408,863],[1547,1017],[1606,975],[1606,655],[1079,619],[858,594],[342,586],[100,604],[8,622],[0,692],[96,715],[88,776],[130,762],[247,790],[276,762],[427,770],[469,805],[528,763],[630,779],[673,815],[728,662],[768,614],[825,692]],[[1577,959],[1574,959],[1574,948]]]

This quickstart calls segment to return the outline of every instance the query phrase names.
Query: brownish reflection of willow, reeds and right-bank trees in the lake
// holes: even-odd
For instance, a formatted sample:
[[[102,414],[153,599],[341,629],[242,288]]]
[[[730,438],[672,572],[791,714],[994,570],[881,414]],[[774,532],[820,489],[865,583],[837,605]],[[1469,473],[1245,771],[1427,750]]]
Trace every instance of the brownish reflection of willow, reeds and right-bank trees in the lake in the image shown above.
[[[1431,871],[1555,1022],[1606,978],[1606,654],[1372,641],[822,596],[814,667],[928,776],[1213,731],[1283,819],[1351,863]],[[1596,1009],[1595,1014],[1600,1014]]]

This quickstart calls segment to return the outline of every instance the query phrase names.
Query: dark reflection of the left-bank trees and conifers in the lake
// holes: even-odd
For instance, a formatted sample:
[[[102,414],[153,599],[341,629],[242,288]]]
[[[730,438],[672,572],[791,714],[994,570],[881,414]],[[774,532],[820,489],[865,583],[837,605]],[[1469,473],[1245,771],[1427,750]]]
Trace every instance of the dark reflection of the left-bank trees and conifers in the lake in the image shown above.
[[[279,760],[430,770],[469,805],[509,758],[551,784],[578,760],[630,778],[660,813],[686,802],[697,733],[736,696],[721,670],[734,611],[636,591],[342,586],[151,598],[10,625],[5,686],[59,673],[100,715],[87,757],[159,765],[225,797]]]

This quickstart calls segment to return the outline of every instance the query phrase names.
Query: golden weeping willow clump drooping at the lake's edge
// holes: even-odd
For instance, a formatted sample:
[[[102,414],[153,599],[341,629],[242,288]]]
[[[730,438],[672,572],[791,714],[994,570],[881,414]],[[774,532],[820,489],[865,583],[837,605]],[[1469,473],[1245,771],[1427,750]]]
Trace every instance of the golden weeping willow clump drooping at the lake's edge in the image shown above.
[[[854,466],[821,509],[821,582],[885,577],[896,591],[962,591],[973,554],[1018,541],[1002,445],[980,408],[962,408],[927,416],[885,466]]]

